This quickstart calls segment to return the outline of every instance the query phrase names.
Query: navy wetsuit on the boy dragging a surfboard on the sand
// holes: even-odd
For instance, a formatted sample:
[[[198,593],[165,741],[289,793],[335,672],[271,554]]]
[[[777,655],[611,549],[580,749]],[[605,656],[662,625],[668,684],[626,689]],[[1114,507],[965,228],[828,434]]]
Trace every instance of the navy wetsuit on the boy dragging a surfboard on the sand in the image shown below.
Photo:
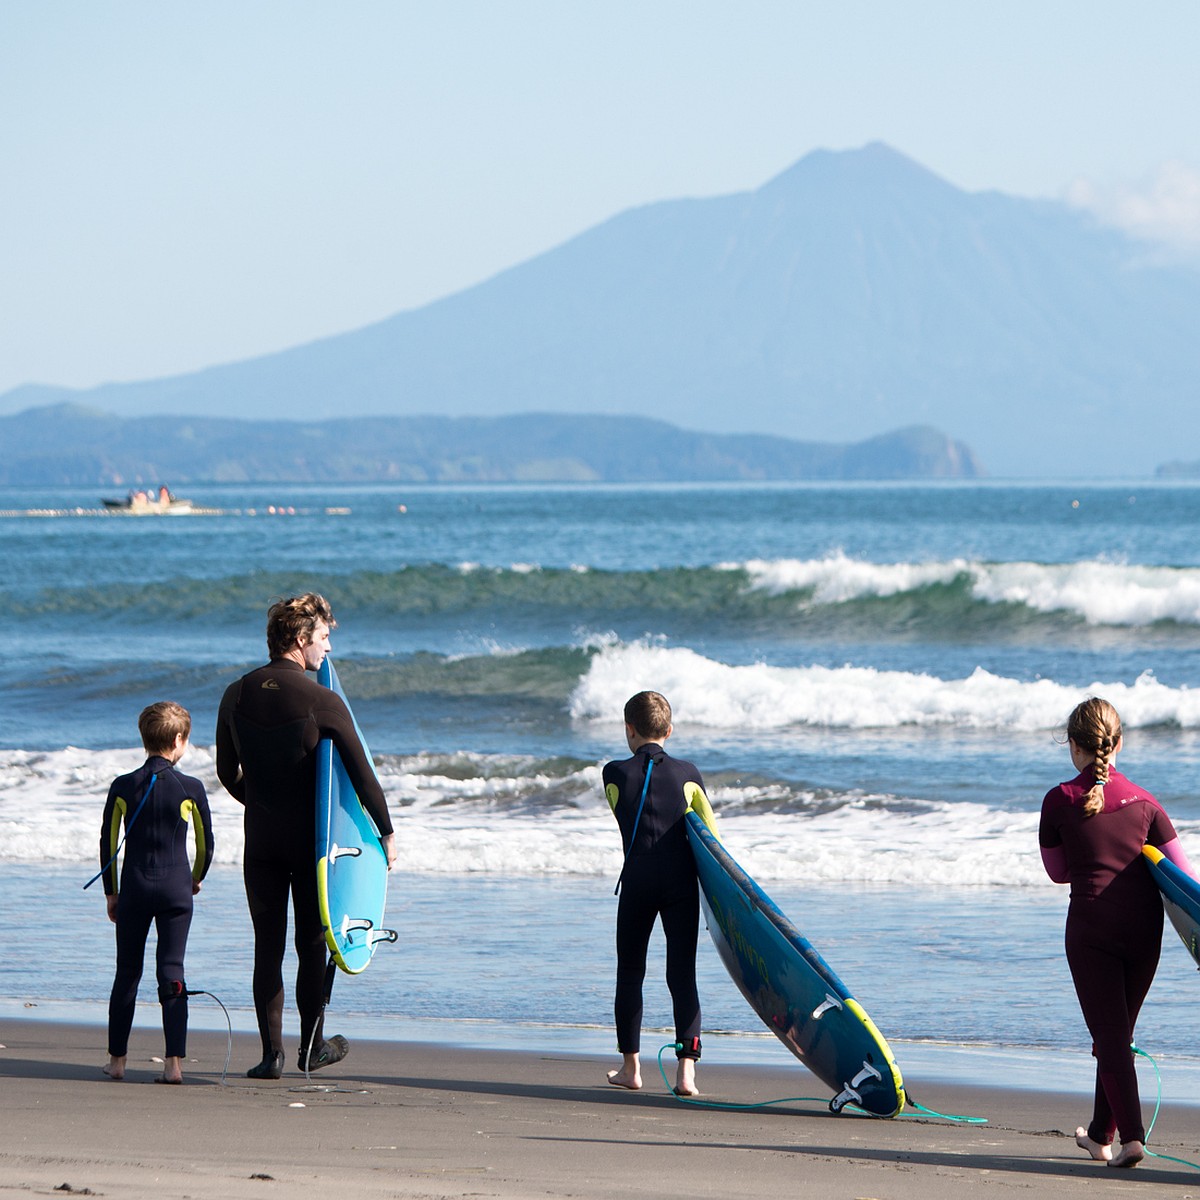
[[[652,758],[654,769],[638,820],[642,787]],[[684,823],[688,802],[683,788],[689,782],[704,786],[700,772],[690,762],[672,758],[653,742],[640,746],[632,758],[610,762],[604,768],[605,794],[620,826],[626,856],[617,905],[617,995],[613,1001],[617,1048],[622,1054],[641,1050],[646,952],[654,920],[661,917],[676,1040],[683,1045],[677,1055],[700,1057],[700,995],[696,990],[700,884]]]

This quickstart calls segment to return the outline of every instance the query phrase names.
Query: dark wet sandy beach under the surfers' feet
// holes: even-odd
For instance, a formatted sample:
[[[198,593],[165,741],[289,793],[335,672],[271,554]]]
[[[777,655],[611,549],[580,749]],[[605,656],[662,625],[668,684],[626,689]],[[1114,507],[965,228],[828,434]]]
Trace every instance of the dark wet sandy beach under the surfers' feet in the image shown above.
[[[244,1070],[257,1039],[245,1034],[221,1086],[227,1039],[203,1031],[185,1086],[163,1087],[150,1038],[134,1038],[121,1084],[101,1074],[98,1027],[13,1020],[0,1042],[4,1195],[1200,1196],[1198,1170],[1147,1158],[1115,1171],[1084,1157],[1068,1136],[1087,1116],[1078,1094],[910,1081],[923,1105],[984,1126],[833,1116],[817,1103],[722,1111],[667,1094],[653,1056],[646,1088],[630,1093],[605,1084],[614,1063],[593,1054],[361,1039],[336,1076],[306,1085],[289,1069],[253,1082]],[[786,1063],[704,1062],[701,1086],[734,1104],[822,1094]],[[1200,1111],[1160,1114],[1152,1148],[1195,1160],[1198,1144]]]

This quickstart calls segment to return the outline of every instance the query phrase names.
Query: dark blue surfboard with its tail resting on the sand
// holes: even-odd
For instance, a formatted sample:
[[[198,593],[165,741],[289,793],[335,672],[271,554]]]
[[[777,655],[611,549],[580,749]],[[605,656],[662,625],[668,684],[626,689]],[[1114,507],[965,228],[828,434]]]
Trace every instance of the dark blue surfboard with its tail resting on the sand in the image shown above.
[[[892,1050],[862,1004],[779,906],[721,844],[708,797],[696,784],[688,840],[701,906],[716,952],[763,1025],[833,1090],[829,1109],[853,1104],[878,1117],[905,1106]]]

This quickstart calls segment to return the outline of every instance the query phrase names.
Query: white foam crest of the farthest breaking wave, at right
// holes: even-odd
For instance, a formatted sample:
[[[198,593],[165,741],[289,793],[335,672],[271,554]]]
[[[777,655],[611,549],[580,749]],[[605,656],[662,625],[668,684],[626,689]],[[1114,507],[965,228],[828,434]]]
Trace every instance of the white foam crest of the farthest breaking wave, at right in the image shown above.
[[[808,592],[811,604],[889,596],[960,576],[988,604],[1021,604],[1038,612],[1069,612],[1092,625],[1200,624],[1200,569],[1081,563],[870,563],[842,553],[820,559],[752,559],[721,564],[745,570],[750,586],[772,595]]]

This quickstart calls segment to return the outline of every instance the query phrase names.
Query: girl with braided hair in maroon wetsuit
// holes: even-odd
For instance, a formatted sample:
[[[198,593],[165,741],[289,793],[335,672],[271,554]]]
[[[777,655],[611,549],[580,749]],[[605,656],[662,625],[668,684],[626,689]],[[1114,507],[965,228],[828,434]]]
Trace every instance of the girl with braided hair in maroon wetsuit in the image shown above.
[[[1067,745],[1079,774],[1046,793],[1038,840],[1046,874],[1070,884],[1067,964],[1096,1057],[1092,1123],[1075,1142],[1109,1166],[1136,1166],[1146,1132],[1130,1045],[1163,941],[1163,902],[1141,847],[1193,871],[1158,800],[1116,769],[1121,718],[1106,700],[1075,708]]]

